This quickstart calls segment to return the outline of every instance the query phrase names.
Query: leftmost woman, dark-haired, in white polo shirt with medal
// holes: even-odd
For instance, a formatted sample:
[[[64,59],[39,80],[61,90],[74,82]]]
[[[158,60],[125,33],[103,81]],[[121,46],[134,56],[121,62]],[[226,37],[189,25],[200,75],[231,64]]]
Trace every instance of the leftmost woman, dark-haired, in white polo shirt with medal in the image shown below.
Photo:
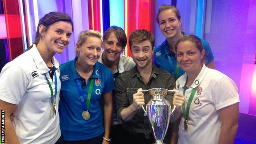
[[[39,21],[30,50],[3,67],[0,109],[5,111],[6,143],[62,143],[58,114],[61,85],[54,55],[63,52],[72,31],[73,22],[67,14],[46,14]]]

